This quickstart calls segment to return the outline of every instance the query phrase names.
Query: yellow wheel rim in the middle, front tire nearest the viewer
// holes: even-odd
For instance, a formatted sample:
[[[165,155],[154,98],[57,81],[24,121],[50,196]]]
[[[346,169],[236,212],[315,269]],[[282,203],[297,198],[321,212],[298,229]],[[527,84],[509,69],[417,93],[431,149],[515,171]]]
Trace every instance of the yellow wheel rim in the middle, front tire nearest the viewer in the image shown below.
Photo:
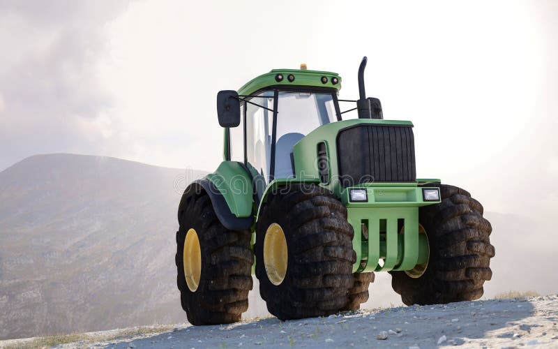
[[[273,285],[280,285],[287,274],[287,239],[280,225],[273,223],[264,238],[264,265]]]

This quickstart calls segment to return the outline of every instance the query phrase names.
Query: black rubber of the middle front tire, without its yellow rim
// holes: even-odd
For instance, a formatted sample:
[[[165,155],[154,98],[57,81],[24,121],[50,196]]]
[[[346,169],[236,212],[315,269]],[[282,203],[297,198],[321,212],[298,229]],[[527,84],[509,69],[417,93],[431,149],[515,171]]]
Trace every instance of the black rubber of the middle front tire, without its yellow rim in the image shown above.
[[[284,190],[286,191],[286,190]],[[288,260],[285,279],[274,285],[264,265],[264,239],[273,223],[285,232]],[[256,225],[256,276],[267,309],[280,320],[337,313],[349,301],[353,286],[352,226],[347,209],[331,191],[294,185],[273,193]]]

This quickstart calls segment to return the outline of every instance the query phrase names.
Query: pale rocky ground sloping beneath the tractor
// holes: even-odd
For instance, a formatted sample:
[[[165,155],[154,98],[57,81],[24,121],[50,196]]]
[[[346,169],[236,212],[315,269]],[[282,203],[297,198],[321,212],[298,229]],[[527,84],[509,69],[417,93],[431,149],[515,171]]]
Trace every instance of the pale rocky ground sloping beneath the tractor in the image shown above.
[[[38,346],[38,339],[0,348]],[[145,327],[91,332],[58,348],[244,348],[301,346],[435,348],[558,348],[558,295],[402,306],[281,322]]]

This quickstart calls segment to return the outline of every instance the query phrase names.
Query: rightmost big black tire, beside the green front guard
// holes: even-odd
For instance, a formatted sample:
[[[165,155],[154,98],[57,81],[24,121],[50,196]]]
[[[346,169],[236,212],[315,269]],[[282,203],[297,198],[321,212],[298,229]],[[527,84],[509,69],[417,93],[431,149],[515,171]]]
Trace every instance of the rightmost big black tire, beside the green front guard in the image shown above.
[[[483,218],[483,206],[461,188],[437,186],[442,202],[418,211],[430,245],[425,273],[412,279],[405,272],[391,272],[393,290],[407,305],[478,299],[483,295],[483,283],[492,278],[490,258],[495,249],[490,244],[492,227]]]

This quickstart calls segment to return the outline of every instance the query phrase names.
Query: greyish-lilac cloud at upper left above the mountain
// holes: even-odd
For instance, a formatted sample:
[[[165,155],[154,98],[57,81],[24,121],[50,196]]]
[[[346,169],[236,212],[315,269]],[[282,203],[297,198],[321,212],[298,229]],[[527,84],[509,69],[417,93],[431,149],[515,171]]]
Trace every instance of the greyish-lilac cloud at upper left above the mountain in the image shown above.
[[[3,1],[0,42],[0,170],[37,153],[96,153],[98,117],[112,105],[97,64],[105,24],[121,1]]]

